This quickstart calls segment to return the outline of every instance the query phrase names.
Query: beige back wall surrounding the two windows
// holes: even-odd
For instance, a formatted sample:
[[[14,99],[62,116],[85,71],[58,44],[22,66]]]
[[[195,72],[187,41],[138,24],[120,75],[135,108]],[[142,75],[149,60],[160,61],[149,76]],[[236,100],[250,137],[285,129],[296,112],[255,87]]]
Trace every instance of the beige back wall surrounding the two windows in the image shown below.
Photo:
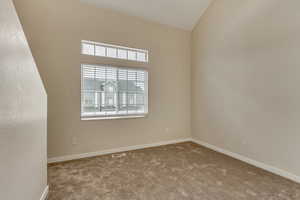
[[[73,0],[15,3],[48,93],[49,157],[190,136],[189,32]],[[80,64],[111,63],[80,56],[82,39],[150,51],[146,66],[112,62],[149,71],[147,118],[80,120]]]

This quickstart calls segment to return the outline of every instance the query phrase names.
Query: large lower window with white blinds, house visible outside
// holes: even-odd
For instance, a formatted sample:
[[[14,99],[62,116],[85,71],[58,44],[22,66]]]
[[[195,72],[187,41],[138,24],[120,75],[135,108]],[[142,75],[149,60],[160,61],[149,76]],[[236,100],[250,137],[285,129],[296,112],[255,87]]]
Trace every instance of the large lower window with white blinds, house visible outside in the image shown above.
[[[148,113],[148,72],[81,66],[81,118],[142,117]]]

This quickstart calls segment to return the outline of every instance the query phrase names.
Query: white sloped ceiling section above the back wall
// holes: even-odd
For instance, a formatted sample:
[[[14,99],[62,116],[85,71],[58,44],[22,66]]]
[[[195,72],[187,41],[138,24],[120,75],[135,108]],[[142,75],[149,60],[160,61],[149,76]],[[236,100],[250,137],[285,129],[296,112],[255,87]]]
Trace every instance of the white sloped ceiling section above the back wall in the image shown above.
[[[212,0],[81,0],[161,24],[192,30]]]

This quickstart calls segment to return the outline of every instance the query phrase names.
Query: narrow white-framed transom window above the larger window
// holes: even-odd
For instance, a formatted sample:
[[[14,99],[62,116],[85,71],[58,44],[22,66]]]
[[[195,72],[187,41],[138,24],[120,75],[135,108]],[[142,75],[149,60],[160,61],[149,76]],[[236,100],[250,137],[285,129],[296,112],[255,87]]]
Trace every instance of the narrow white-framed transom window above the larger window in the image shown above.
[[[116,58],[137,62],[148,62],[147,50],[98,43],[92,41],[81,41],[81,53],[90,56]]]

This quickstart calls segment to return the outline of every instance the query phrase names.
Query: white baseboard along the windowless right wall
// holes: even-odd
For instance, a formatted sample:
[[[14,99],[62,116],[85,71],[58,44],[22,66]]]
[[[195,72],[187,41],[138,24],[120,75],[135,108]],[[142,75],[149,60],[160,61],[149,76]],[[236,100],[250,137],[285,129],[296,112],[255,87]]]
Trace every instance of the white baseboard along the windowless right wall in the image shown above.
[[[232,158],[241,160],[241,161],[246,162],[246,163],[248,163],[250,165],[253,165],[255,167],[258,167],[258,168],[264,169],[266,171],[269,171],[269,172],[271,172],[273,174],[277,174],[277,175],[282,176],[284,178],[290,179],[290,180],[292,180],[294,182],[300,183],[300,177],[297,176],[297,175],[295,175],[295,174],[292,174],[292,173],[290,173],[288,171],[285,171],[285,170],[282,170],[282,169],[278,169],[278,168],[273,167],[271,165],[267,165],[265,163],[262,163],[262,162],[259,162],[259,161],[247,158],[247,157],[242,156],[240,154],[233,153],[231,151],[228,151],[228,150],[216,147],[214,145],[208,144],[208,143],[203,142],[203,141],[199,141],[199,140],[196,140],[196,139],[192,139],[192,141],[195,142],[195,143],[197,143],[197,144],[199,144],[199,145],[201,145],[201,146],[204,146],[204,147],[207,147],[207,148],[209,148],[211,150],[214,150],[216,152],[225,154],[227,156],[230,156]]]

